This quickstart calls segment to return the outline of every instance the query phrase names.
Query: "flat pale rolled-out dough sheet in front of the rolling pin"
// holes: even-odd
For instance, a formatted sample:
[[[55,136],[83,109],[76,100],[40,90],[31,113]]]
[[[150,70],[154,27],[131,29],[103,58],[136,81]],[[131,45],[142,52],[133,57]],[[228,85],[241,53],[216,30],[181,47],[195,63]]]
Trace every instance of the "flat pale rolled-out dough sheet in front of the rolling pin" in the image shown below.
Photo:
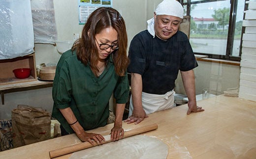
[[[167,155],[168,146],[158,138],[135,135],[74,152],[69,159],[166,159]]]

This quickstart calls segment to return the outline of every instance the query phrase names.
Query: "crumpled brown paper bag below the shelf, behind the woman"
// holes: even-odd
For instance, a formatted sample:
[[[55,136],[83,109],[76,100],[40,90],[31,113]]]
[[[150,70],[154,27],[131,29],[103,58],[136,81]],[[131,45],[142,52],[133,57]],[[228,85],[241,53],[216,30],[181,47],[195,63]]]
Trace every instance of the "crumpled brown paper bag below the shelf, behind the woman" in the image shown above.
[[[41,108],[18,105],[12,110],[13,146],[50,139],[51,114]]]

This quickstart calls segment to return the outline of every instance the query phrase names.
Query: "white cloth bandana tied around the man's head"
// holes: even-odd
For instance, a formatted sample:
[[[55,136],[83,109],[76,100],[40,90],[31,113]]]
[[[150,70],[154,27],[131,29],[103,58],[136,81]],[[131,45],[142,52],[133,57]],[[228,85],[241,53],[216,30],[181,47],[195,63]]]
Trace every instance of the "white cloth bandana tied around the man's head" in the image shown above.
[[[163,0],[157,6],[155,11],[157,15],[171,15],[183,19],[183,7],[177,0]],[[153,37],[155,37],[154,17],[147,21],[148,31]]]

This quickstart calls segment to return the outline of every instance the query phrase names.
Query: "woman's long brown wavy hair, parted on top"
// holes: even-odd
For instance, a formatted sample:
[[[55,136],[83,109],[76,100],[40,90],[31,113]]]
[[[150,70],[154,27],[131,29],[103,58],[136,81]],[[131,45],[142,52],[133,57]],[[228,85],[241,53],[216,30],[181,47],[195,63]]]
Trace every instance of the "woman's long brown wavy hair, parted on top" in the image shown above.
[[[124,76],[128,67],[127,57],[127,32],[126,25],[120,13],[111,7],[97,8],[88,18],[82,36],[72,46],[72,51],[76,51],[78,60],[83,64],[90,64],[96,75],[99,71],[96,64],[99,59],[95,35],[103,29],[113,27],[118,33],[118,50],[111,53],[115,65],[115,72],[119,76]],[[88,33],[90,32],[90,33]],[[109,57],[108,57],[109,59]],[[97,76],[97,75],[96,75]]]

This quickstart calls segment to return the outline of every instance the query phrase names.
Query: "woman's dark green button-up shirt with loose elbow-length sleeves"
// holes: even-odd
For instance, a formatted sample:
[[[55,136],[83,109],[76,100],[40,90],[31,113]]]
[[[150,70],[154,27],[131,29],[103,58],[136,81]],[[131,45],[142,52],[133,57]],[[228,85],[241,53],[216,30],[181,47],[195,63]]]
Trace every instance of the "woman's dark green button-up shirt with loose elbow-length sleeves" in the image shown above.
[[[126,103],[129,94],[127,73],[121,77],[115,73],[114,64],[109,62],[99,77],[89,65],[81,63],[75,52],[66,51],[57,64],[53,82],[52,111],[66,132],[73,133],[59,109],[70,107],[85,129],[102,127],[109,117],[109,99],[114,95],[117,103]]]

